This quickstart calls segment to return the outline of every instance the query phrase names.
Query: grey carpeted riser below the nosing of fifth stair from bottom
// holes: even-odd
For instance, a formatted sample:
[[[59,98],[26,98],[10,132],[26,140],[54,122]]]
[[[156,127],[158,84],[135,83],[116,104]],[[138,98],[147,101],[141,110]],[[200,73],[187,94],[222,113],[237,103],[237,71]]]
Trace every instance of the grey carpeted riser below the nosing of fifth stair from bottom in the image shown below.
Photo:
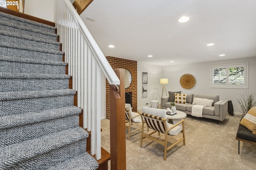
[[[4,79],[0,78],[0,92],[59,90],[68,88],[69,79]]]

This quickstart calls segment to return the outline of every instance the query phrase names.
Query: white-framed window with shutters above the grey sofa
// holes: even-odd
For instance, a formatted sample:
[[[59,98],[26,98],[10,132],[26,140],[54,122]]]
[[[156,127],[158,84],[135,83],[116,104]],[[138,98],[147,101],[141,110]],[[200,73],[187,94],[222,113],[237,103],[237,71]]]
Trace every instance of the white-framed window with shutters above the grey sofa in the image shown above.
[[[210,66],[210,88],[248,88],[248,63]]]

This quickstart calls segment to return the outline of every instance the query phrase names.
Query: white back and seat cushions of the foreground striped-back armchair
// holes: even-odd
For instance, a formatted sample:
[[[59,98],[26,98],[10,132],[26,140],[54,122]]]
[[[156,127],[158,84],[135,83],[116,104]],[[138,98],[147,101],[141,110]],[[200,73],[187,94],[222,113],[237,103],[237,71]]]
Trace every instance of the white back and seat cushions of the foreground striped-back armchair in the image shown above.
[[[159,116],[162,118],[166,118],[166,109],[155,109],[155,108],[151,108],[151,107],[142,107],[142,113],[147,113],[150,115],[155,115],[155,116]],[[167,122],[166,119],[166,123],[167,123],[167,129],[169,127],[172,127],[173,125],[171,123]],[[182,131],[182,127],[180,126],[176,126],[173,129],[171,129],[170,131],[168,131],[169,135],[177,135],[178,133],[180,133],[180,131]]]

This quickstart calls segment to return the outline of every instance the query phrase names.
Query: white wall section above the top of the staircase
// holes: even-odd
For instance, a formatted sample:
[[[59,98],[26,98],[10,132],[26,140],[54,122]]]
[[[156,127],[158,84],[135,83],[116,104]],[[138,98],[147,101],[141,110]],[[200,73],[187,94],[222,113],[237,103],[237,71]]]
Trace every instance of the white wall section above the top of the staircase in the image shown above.
[[[25,0],[25,14],[54,22],[54,0]]]

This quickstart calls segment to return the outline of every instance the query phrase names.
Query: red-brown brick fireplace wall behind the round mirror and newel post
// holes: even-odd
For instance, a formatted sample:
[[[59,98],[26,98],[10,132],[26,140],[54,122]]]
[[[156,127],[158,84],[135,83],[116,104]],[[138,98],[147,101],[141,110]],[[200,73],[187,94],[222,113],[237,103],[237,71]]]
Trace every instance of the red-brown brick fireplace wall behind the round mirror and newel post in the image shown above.
[[[132,83],[125,89],[126,92],[132,92],[132,111],[137,111],[137,61],[119,59],[116,57],[106,57],[113,69],[125,68],[132,74]],[[106,118],[109,119],[109,84],[106,80]]]

